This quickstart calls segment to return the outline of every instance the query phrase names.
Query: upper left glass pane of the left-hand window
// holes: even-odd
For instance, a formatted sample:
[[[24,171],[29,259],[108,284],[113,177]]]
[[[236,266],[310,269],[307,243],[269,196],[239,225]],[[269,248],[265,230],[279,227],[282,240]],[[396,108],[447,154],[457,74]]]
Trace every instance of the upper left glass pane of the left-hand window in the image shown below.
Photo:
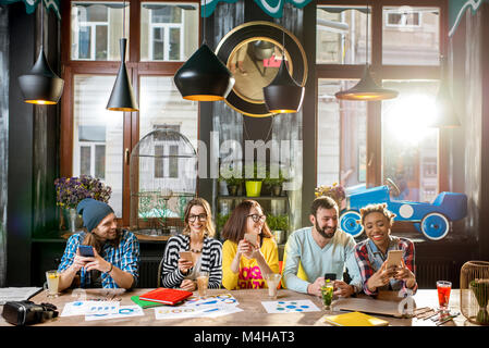
[[[129,38],[130,5],[125,5],[125,37]],[[123,37],[123,2],[72,2],[71,59],[118,61]],[[129,42],[126,54],[129,53]]]

